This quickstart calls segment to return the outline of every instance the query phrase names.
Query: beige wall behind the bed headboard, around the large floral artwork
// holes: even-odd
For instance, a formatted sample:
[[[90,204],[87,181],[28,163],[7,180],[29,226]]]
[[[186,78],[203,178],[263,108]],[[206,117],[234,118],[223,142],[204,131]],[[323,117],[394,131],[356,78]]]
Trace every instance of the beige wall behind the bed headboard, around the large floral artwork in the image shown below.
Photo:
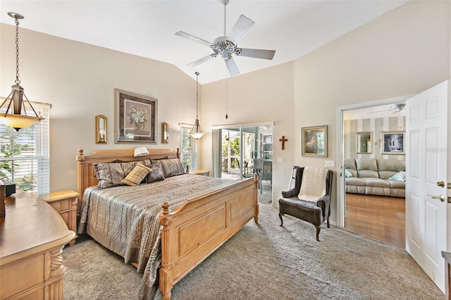
[[[16,78],[14,27],[0,24],[1,96]],[[51,192],[77,188],[78,149],[134,149],[115,144],[114,89],[158,99],[158,144],[179,146],[178,123],[192,123],[196,82],[168,63],[132,56],[20,28],[20,80],[30,101],[48,102]],[[108,118],[108,144],[95,144],[94,116]],[[169,124],[169,144],[161,144],[161,122]]]

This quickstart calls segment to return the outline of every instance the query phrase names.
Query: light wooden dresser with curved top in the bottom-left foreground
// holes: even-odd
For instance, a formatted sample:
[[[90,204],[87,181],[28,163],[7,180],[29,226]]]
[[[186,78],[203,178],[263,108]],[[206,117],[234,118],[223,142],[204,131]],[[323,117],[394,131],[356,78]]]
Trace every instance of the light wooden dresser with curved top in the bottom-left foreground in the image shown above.
[[[63,246],[75,237],[37,196],[18,190],[0,218],[0,299],[63,299]]]

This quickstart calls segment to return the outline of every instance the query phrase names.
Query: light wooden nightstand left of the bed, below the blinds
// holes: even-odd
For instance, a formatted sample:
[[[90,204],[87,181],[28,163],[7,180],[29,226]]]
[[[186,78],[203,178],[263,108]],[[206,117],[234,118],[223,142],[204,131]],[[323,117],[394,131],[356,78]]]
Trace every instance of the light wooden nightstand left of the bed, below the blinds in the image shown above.
[[[50,204],[61,215],[69,230],[77,233],[77,202],[80,194],[70,190],[39,195],[39,198]],[[75,238],[69,246],[75,245]]]

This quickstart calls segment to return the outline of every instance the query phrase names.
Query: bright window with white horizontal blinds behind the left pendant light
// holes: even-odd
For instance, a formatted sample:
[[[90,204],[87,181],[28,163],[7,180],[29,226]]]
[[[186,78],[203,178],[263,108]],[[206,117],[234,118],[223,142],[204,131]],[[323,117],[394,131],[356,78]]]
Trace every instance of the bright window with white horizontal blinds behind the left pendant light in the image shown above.
[[[32,102],[44,120],[18,132],[0,125],[0,180],[16,183],[18,189],[47,194],[49,175],[49,104]],[[32,114],[32,112],[28,112]]]

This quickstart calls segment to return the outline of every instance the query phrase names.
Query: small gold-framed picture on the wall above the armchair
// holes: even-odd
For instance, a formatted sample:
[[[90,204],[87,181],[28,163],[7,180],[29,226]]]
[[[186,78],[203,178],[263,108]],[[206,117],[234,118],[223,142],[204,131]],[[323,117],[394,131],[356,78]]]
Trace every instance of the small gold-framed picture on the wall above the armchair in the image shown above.
[[[302,156],[327,157],[327,125],[302,127]]]

